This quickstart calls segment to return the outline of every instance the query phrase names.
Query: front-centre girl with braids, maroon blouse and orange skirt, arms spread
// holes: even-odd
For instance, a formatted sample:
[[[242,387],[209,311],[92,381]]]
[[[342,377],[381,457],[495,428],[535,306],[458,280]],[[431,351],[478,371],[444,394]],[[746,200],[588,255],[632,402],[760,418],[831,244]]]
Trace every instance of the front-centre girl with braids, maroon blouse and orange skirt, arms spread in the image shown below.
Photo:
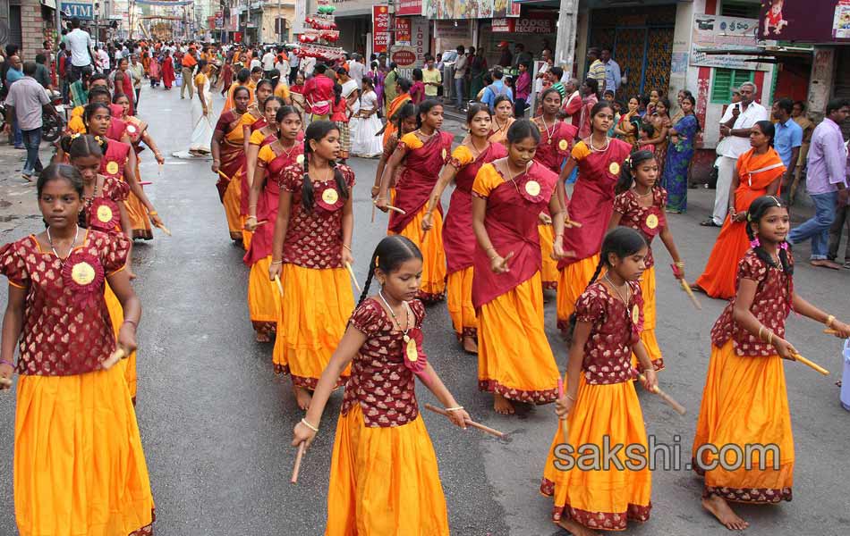
[[[466,427],[469,414],[422,351],[425,307],[416,299],[422,254],[400,235],[375,248],[360,304],[319,379],[293,446],[309,447],[340,374],[351,364],[336,423],[327,492],[327,536],[448,535],[437,456],[416,401],[414,375]],[[380,289],[369,296],[372,280]]]

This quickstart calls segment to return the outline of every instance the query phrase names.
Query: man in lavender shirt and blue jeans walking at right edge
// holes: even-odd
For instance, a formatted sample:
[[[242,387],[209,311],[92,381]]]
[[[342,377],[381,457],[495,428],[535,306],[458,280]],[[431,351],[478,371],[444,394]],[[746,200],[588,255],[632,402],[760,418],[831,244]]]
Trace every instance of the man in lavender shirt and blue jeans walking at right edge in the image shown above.
[[[744,97],[744,93],[741,96]],[[815,214],[788,233],[791,244],[812,239],[812,266],[833,270],[841,265],[827,258],[829,228],[836,219],[836,205],[846,205],[850,191],[846,184],[847,155],[841,135],[841,123],[846,121],[848,113],[850,103],[846,99],[832,99],[827,105],[826,117],[815,128],[806,172],[806,190],[814,202]]]

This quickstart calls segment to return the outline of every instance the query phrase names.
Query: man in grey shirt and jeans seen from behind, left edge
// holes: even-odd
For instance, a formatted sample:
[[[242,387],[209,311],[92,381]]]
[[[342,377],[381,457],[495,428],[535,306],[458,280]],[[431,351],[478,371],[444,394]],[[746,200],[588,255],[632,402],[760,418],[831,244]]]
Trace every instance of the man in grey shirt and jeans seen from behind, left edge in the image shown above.
[[[18,56],[13,56],[17,58]],[[20,59],[18,60],[20,62]],[[23,64],[20,80],[15,81],[6,96],[6,133],[13,122],[21,129],[23,144],[27,149],[27,161],[23,164],[23,178],[32,180],[33,173],[42,170],[38,160],[38,146],[41,145],[42,113],[55,115],[50,99],[35,78],[38,67],[35,62]]]

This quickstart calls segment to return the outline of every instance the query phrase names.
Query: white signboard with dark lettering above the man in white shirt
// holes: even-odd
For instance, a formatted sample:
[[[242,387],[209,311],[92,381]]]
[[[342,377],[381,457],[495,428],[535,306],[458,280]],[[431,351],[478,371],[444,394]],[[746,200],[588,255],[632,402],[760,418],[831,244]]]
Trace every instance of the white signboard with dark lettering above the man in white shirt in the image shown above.
[[[694,67],[719,67],[723,69],[747,69],[750,71],[768,71],[768,63],[746,62],[746,55],[705,54],[706,50],[752,49],[758,46],[756,32],[758,19],[737,17],[718,17],[697,14],[693,16],[692,46],[690,63]]]

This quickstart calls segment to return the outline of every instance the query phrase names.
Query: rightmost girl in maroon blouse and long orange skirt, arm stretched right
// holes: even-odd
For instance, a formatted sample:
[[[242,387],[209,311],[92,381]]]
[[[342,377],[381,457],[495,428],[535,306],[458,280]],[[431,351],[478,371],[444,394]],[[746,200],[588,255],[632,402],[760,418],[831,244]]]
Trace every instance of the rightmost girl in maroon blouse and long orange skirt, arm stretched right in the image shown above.
[[[729,530],[744,521],[728,501],[776,504],[791,500],[794,439],[782,359],[795,360],[785,322],[794,310],[823,322],[841,339],[850,326],[800,297],[794,289],[794,258],[786,242],[788,209],[777,197],[756,198],[747,211],[751,249],[738,263],[732,302],[711,330],[709,373],[702,391],[700,418],[693,438],[693,468],[705,476],[702,506]],[[775,445],[748,468],[716,465],[705,445]],[[718,448],[718,447],[715,447]],[[717,452],[715,450],[715,452]],[[778,456],[778,460],[775,456]]]

